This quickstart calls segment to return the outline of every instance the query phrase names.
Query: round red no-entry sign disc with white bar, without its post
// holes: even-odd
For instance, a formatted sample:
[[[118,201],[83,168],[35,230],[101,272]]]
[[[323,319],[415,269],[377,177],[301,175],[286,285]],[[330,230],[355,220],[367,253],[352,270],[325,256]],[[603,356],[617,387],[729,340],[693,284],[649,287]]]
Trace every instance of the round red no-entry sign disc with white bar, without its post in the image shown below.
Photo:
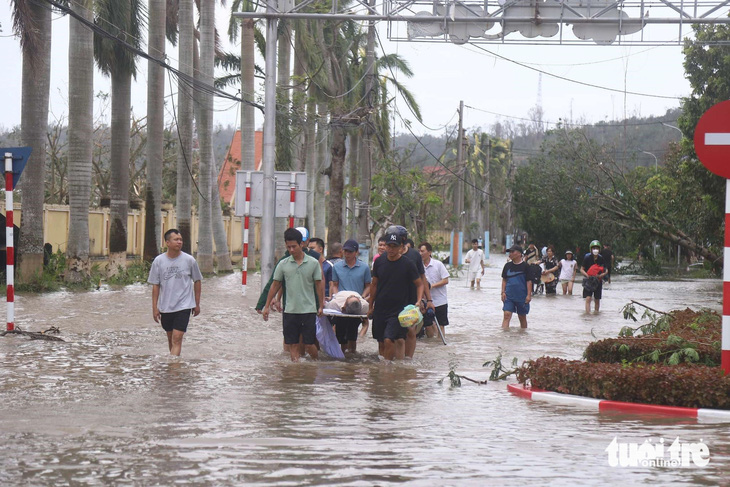
[[[695,127],[695,152],[712,173],[730,179],[730,101],[707,110]]]

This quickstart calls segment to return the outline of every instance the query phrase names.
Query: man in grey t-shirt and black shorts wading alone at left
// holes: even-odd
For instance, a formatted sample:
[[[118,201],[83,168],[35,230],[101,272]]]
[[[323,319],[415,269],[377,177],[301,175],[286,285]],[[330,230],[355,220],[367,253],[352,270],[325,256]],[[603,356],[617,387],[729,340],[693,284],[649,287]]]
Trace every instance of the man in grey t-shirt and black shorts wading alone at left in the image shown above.
[[[167,332],[171,355],[180,355],[190,314],[200,314],[203,275],[195,258],[182,251],[176,228],[165,232],[167,252],[155,257],[147,282],[152,284],[152,318]]]

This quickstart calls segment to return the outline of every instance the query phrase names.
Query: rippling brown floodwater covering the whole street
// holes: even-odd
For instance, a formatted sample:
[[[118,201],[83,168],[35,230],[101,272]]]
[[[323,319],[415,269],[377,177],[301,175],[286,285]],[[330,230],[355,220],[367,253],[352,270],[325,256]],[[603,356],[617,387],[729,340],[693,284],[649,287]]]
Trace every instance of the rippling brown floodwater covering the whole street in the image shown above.
[[[524,400],[509,381],[438,380],[451,367],[486,379],[542,355],[581,357],[615,337],[630,299],[659,310],[721,310],[719,280],[616,276],[601,312],[577,296],[533,300],[529,328],[501,330],[500,272],[481,291],[448,286],[448,346],[419,341],[413,361],[384,363],[377,343],[346,362],[292,364],[281,318],[253,310],[240,273],[203,281],[201,315],[171,360],[151,313],[151,288],[20,295],[17,324],[61,329],[67,343],[0,338],[1,485],[690,485],[730,480],[727,425],[597,414]],[[560,291],[559,291],[560,292]],[[4,305],[0,306],[4,313]],[[2,315],[4,316],[4,314]],[[609,466],[606,447],[675,437],[706,443],[704,468]]]

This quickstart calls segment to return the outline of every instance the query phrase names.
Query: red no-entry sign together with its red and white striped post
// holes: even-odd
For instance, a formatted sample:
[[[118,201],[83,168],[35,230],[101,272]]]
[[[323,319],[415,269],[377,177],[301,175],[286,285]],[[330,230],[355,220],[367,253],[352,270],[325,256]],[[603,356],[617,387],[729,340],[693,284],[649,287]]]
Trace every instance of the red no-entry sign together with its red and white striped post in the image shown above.
[[[695,127],[695,152],[713,174],[725,178],[725,251],[722,285],[722,352],[720,368],[730,373],[730,101],[707,110]]]

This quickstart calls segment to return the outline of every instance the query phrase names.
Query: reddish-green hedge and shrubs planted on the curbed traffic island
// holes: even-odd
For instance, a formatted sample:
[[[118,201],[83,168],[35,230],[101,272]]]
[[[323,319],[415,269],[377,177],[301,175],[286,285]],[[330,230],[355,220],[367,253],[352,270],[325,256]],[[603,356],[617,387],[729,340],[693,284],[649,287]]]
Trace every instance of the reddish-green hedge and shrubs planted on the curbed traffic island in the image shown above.
[[[627,305],[624,315],[636,321],[635,311]],[[720,316],[690,309],[659,314],[648,313],[646,325],[624,327],[619,338],[591,343],[586,361],[541,357],[525,362],[517,379],[597,399],[730,409],[730,376],[717,366]]]

